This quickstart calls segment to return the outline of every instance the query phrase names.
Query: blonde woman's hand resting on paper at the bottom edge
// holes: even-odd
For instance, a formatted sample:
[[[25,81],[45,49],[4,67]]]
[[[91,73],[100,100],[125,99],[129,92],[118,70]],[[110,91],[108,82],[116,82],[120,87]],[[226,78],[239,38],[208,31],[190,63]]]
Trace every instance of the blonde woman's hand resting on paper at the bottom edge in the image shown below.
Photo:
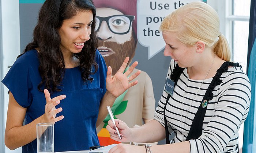
[[[128,144],[118,144],[109,150],[109,153],[144,153],[145,146],[135,146]]]

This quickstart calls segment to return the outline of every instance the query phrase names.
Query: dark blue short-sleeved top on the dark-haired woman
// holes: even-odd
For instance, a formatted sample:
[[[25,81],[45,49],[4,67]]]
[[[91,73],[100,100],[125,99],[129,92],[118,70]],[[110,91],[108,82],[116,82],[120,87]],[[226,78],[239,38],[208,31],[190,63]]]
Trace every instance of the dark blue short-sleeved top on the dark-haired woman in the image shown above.
[[[98,70],[91,75],[93,81],[83,82],[79,66],[66,68],[60,92],[53,92],[51,98],[65,94],[66,98],[56,106],[63,108],[56,117],[64,119],[54,124],[54,151],[89,150],[99,145],[96,132],[99,104],[106,92],[107,67],[99,51],[95,61]],[[38,71],[37,50],[27,51],[16,60],[3,79],[20,106],[27,108],[26,124],[45,113],[45,95],[38,90],[41,76]],[[37,153],[36,139],[22,147],[22,153]]]

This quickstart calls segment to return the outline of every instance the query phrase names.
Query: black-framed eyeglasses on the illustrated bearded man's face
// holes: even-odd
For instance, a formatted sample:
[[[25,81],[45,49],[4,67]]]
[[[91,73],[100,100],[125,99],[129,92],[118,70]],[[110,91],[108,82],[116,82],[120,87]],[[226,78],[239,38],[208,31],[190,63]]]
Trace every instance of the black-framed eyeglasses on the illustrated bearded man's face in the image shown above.
[[[130,31],[131,24],[134,19],[135,16],[132,15],[112,15],[108,17],[96,16],[95,31],[97,32],[99,30],[102,21],[106,21],[111,32],[114,34],[124,35]]]

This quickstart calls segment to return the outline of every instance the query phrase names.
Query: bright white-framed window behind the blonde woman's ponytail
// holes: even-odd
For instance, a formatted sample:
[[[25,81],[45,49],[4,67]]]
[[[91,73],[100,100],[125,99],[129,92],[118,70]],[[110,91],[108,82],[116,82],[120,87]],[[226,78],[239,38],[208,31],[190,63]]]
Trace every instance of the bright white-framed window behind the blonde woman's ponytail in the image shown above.
[[[230,44],[231,61],[238,62],[246,73],[251,0],[217,0],[215,9],[220,17],[220,30]],[[241,149],[244,124],[241,125],[238,133]]]

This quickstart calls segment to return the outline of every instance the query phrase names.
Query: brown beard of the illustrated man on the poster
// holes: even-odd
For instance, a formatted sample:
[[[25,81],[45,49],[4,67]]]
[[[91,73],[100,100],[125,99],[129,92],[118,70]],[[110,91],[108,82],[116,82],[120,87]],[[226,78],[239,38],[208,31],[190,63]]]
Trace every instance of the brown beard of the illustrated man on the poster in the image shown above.
[[[112,55],[103,57],[106,65],[112,67],[112,75],[116,74],[127,56],[130,57],[127,64],[128,66],[135,54],[135,40],[133,36],[131,37],[131,40],[126,41],[124,44],[99,40],[99,47],[101,46],[111,48],[115,52]]]

